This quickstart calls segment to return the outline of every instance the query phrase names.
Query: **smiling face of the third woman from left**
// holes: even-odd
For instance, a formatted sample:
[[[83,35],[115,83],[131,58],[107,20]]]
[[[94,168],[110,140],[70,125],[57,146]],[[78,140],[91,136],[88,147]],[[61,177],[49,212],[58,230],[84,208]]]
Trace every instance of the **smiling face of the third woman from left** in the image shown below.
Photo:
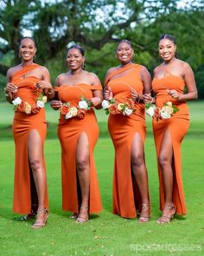
[[[118,61],[121,62],[121,64],[127,64],[131,62],[134,51],[130,44],[122,42],[118,45],[116,54]]]

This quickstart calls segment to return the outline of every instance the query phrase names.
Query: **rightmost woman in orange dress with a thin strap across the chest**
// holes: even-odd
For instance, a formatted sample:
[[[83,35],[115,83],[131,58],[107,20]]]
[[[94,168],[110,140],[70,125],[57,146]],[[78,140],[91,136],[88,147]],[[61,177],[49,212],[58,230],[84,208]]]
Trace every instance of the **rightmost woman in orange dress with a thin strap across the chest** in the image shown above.
[[[171,102],[179,109],[170,118],[153,119],[159,174],[160,209],[163,211],[158,223],[169,222],[175,213],[186,214],[182,188],[181,143],[189,126],[186,101],[197,98],[194,73],[187,62],[175,57],[175,38],[164,35],[159,40],[159,55],[163,63],[156,67],[152,88],[156,98],[145,95],[145,102],[155,102],[158,108]],[[187,93],[184,89],[187,88]]]

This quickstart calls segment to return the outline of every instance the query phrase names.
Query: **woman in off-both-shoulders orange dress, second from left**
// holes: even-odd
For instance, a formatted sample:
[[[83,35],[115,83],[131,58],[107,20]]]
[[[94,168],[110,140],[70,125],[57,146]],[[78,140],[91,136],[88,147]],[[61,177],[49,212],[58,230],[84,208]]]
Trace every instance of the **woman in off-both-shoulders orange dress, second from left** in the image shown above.
[[[97,75],[83,69],[84,50],[73,45],[67,52],[70,71],[55,82],[52,108],[60,109],[58,136],[61,141],[62,208],[70,218],[86,222],[99,213],[101,200],[93,160],[99,128],[93,107],[100,108],[102,86]]]

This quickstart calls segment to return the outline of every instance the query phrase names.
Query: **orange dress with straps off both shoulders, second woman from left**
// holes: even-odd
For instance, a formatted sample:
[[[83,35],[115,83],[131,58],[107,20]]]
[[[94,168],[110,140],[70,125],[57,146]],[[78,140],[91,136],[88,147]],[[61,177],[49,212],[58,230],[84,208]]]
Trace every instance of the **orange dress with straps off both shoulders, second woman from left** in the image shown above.
[[[77,107],[81,97],[92,98],[93,90],[101,90],[99,85],[79,83],[74,86],[61,85],[56,87],[58,98],[61,102],[69,102]],[[89,141],[90,153],[90,194],[89,213],[99,213],[102,204],[99,194],[96,167],[93,160],[93,149],[99,137],[99,127],[93,109],[87,110],[84,118],[72,117],[65,119],[61,115],[58,136],[61,141],[61,181],[62,181],[62,209],[73,213],[79,213],[80,186],[76,170],[76,148],[78,139],[85,133]]]

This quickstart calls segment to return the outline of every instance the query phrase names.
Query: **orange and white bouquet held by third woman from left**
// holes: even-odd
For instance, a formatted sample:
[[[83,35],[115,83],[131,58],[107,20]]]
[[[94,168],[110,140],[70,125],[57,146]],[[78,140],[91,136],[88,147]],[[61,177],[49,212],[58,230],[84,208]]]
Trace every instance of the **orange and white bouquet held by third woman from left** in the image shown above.
[[[137,110],[136,104],[132,99],[126,99],[123,103],[117,103],[114,99],[110,101],[104,100],[102,108],[105,110],[106,115],[122,114],[129,116]]]

